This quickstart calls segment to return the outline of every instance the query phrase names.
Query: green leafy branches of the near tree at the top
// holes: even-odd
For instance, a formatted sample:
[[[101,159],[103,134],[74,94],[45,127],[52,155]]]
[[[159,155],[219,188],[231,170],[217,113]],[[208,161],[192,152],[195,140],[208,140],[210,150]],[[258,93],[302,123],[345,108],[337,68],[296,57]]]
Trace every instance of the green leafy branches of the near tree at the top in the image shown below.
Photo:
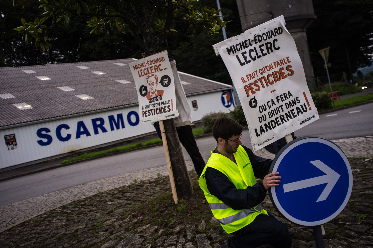
[[[17,3],[23,8],[27,2],[18,0]],[[43,11],[40,15],[44,16],[41,20],[51,19],[48,26],[38,25],[38,19],[28,23],[22,21],[23,28],[19,27],[21,30],[16,31],[26,32],[26,43],[35,38],[35,46],[44,50],[50,46],[45,43],[48,28],[67,28],[73,19],[89,18],[87,26],[91,28],[91,34],[131,33],[145,53],[151,55],[159,52],[171,31],[176,31],[171,27],[174,16],[183,15],[183,20],[188,22],[188,29],[198,33],[207,30],[206,33],[212,35],[226,25],[227,22],[219,18],[220,10],[212,8],[200,12],[191,4],[193,2],[194,0],[44,0],[39,9]],[[34,26],[37,26],[38,33],[34,33]]]

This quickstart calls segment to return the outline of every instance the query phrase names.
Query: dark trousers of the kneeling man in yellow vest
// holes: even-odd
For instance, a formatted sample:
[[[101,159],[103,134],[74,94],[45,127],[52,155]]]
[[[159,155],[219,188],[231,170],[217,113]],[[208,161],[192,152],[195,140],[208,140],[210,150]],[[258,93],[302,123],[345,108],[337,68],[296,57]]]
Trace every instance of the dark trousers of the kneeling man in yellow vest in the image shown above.
[[[231,234],[235,235],[228,242],[232,248],[254,248],[268,244],[275,248],[287,248],[292,242],[288,227],[272,215],[265,214],[259,214],[253,222]]]

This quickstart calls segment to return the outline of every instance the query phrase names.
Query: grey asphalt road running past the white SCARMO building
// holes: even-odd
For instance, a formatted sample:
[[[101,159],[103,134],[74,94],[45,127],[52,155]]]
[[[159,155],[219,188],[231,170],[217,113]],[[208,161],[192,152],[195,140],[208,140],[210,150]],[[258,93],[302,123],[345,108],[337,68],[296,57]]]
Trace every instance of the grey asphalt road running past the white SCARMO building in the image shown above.
[[[295,132],[297,137],[320,136],[342,139],[373,135],[373,103],[321,114],[317,120]],[[243,131],[242,143],[250,147],[250,134]],[[197,139],[203,157],[209,157],[215,144],[212,136]],[[185,160],[190,157],[183,149]],[[0,206],[57,190],[68,189],[98,179],[166,164],[163,146],[108,156],[54,170],[0,182]],[[139,180],[141,176],[137,177]]]

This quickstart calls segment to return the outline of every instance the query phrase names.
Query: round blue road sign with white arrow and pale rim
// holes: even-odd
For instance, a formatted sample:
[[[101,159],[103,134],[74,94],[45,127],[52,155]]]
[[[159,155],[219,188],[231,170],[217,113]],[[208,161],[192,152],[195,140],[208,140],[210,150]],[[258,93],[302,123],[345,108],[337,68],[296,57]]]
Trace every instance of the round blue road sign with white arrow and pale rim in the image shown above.
[[[285,145],[269,172],[279,172],[279,186],[269,196],[289,221],[324,224],[347,205],[352,190],[350,163],[341,148],[321,137],[301,137]]]

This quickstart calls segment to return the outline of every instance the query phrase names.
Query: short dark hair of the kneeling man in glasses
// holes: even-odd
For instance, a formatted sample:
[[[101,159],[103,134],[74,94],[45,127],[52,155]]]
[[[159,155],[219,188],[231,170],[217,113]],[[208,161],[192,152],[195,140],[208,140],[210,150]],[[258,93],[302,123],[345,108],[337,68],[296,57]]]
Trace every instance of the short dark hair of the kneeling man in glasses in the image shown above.
[[[216,142],[217,138],[228,140],[234,135],[241,134],[242,129],[242,125],[237,121],[228,117],[222,117],[215,121],[214,126],[212,127],[212,135],[214,136]]]

